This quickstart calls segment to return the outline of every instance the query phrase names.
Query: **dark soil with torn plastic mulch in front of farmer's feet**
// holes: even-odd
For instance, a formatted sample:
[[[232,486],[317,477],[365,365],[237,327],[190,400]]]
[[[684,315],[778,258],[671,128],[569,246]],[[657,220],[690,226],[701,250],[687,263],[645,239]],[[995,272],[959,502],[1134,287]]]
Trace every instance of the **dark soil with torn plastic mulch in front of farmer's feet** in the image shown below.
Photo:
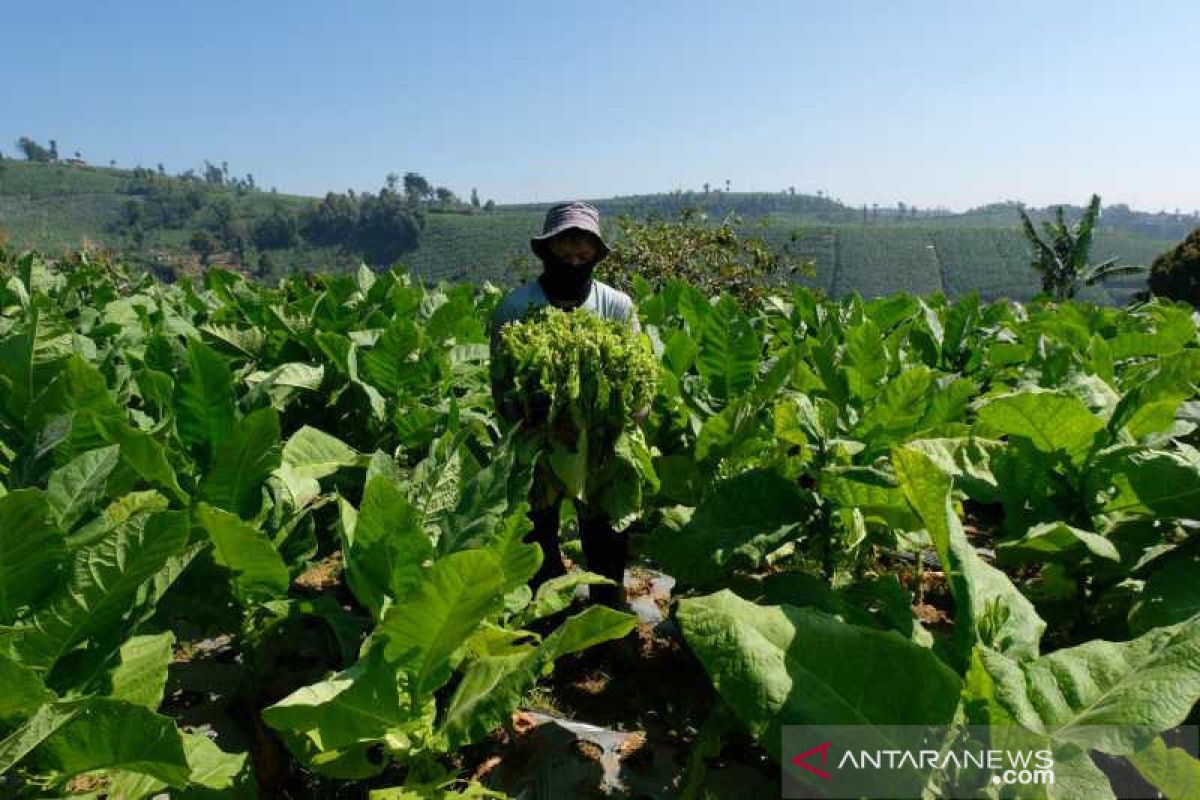
[[[648,570],[626,575],[630,606],[641,619],[654,608],[659,621],[560,658],[536,690],[544,710],[518,711],[508,735],[468,748],[467,769],[530,800],[676,796],[716,693],[667,615],[672,584]],[[704,768],[709,796],[779,796],[778,766],[749,736],[727,741]]]

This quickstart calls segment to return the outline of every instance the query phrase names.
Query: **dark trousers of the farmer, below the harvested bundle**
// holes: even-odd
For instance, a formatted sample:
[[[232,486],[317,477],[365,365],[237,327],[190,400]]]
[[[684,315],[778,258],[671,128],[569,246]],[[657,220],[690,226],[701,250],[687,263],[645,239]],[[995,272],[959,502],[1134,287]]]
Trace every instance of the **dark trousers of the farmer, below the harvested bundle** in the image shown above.
[[[524,541],[539,545],[542,553],[541,567],[529,581],[534,591],[546,581],[566,572],[563,553],[558,547],[558,515],[562,505],[563,500],[558,498],[548,506],[529,512],[533,530],[526,535]],[[617,606],[625,597],[624,577],[625,561],[629,558],[629,535],[614,530],[612,521],[581,503],[575,504],[575,516],[580,522],[580,542],[583,545],[583,558],[587,560],[588,571],[617,583],[614,587],[588,587],[590,597],[606,606]]]

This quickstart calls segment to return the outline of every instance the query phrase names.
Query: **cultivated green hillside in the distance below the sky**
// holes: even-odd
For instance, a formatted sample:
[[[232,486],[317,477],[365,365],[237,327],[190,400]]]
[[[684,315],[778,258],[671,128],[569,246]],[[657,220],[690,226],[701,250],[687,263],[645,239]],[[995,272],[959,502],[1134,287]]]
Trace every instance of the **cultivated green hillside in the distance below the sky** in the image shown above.
[[[148,170],[144,170],[148,172]],[[193,271],[200,257],[191,243],[197,231],[216,229],[216,217],[233,215],[254,230],[277,215],[295,219],[316,207],[317,198],[278,194],[244,187],[192,185],[169,176],[163,185],[191,193],[194,211],[185,207],[173,227],[139,223],[150,196],[134,188],[136,174],[66,163],[0,162],[0,230],[18,247],[49,251],[84,245],[140,252],[148,261],[173,271]],[[182,197],[182,196],[181,196]],[[648,213],[672,216],[700,207],[714,218],[740,215],[745,227],[767,241],[787,245],[811,259],[816,275],[805,283],[833,295],[859,291],[866,296],[893,291],[944,290],[950,295],[979,291],[985,299],[1028,299],[1037,293],[1028,269],[1025,240],[1016,227],[1016,205],[994,204],[965,213],[895,209],[853,209],[828,197],[791,193],[672,192],[592,200],[616,235],[614,217]],[[492,212],[462,209],[448,213],[434,206],[419,212],[420,243],[403,251],[400,263],[427,281],[490,279],[511,284],[532,273],[528,237],[540,229],[548,204],[500,205]],[[142,206],[138,209],[137,206]],[[221,209],[215,212],[215,209]],[[1032,210],[1044,218],[1046,210]],[[1078,213],[1078,209],[1068,209]],[[1093,258],[1111,255],[1127,264],[1148,264],[1186,235],[1196,219],[1188,215],[1152,215],[1112,206],[1093,245]],[[1147,235],[1147,231],[1153,235]],[[1181,233],[1182,231],[1182,233]],[[242,251],[215,249],[212,263],[235,264],[262,277],[287,271],[343,271],[362,254],[343,246],[313,246],[299,237],[290,246]],[[248,263],[242,263],[248,261]],[[1144,288],[1127,279],[1092,290],[1090,299],[1122,302]]]

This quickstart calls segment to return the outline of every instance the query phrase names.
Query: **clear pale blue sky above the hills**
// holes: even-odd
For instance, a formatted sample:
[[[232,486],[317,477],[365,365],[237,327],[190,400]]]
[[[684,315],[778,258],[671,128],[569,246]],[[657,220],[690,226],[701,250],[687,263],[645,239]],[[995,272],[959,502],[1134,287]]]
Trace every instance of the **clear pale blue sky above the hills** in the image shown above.
[[[840,6],[840,7],[836,7]],[[503,11],[498,11],[503,10]],[[8,4],[0,150],[320,194],[1200,207],[1200,2]]]

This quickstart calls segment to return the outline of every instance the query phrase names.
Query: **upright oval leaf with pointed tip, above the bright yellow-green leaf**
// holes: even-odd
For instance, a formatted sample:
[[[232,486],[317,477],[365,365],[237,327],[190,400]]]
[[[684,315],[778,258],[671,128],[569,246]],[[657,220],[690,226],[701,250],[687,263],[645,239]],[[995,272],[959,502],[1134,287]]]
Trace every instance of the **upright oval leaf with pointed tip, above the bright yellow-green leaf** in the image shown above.
[[[433,545],[404,494],[377,475],[367,481],[358,521],[346,530],[342,552],[354,596],[378,619],[385,600],[403,599],[421,581]]]

